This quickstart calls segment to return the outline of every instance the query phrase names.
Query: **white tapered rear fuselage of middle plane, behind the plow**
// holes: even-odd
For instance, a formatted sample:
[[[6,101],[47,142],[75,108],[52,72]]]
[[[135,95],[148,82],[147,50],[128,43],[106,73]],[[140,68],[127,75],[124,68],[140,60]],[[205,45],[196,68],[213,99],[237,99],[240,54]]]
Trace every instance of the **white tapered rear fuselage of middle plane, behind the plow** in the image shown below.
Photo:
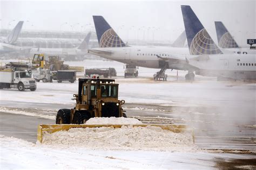
[[[163,60],[156,55],[167,58],[170,54],[188,55],[189,51],[187,48],[179,47],[131,46],[95,48],[90,49],[89,53],[125,64],[161,69]]]

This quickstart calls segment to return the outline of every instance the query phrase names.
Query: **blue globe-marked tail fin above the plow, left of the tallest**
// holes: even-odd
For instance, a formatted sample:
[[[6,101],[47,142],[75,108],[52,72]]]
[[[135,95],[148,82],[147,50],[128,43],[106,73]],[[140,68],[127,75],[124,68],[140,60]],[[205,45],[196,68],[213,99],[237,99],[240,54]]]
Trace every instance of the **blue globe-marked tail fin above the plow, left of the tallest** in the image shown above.
[[[123,40],[102,16],[93,16],[99,47],[124,47]]]

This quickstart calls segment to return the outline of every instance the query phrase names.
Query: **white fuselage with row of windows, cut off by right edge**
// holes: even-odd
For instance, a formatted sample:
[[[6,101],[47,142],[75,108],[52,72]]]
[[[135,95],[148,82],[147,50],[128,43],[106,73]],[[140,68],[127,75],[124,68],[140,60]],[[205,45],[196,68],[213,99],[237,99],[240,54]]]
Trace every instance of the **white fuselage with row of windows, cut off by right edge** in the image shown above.
[[[256,79],[256,55],[210,55],[208,60],[190,60],[196,74],[232,79]]]

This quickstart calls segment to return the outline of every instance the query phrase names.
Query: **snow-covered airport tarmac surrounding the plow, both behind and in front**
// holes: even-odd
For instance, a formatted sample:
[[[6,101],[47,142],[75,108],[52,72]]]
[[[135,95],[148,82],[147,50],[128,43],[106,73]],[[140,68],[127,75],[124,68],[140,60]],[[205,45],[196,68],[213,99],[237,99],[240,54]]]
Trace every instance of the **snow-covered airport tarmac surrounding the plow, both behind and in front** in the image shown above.
[[[115,67],[119,83],[119,99],[126,101],[124,108],[130,117],[157,121],[185,123],[196,128],[197,140],[207,138],[225,143],[230,148],[241,148],[241,142],[255,148],[255,83],[217,82],[215,78],[196,76],[194,83],[186,83],[186,72],[168,70],[168,81],[153,81],[156,69],[139,68],[139,78],[123,78],[123,64],[85,60],[65,62],[71,66]],[[82,77],[79,73],[78,77]],[[55,119],[59,108],[71,108],[75,102],[78,82],[37,83],[35,92],[16,89],[0,90],[0,111]],[[167,117],[167,118],[162,118]],[[156,119],[155,119],[156,120]],[[152,121],[152,120],[150,120]],[[1,126],[0,126],[1,127]],[[1,133],[0,133],[1,134]],[[203,138],[203,140],[201,140]],[[228,138],[228,142],[223,139]],[[205,151],[103,151],[78,147],[51,147],[1,136],[0,169],[15,168],[219,168],[221,162],[228,167],[237,159],[255,162],[255,155],[208,153]],[[234,144],[234,145],[233,145]],[[206,147],[207,147],[206,142]],[[214,145],[214,147],[220,145]],[[65,155],[65,157],[63,157]],[[72,159],[72,161],[70,161]],[[234,162],[233,162],[234,161]],[[228,163],[230,162],[230,164]],[[254,165],[256,166],[256,165]],[[246,167],[244,167],[246,168]]]

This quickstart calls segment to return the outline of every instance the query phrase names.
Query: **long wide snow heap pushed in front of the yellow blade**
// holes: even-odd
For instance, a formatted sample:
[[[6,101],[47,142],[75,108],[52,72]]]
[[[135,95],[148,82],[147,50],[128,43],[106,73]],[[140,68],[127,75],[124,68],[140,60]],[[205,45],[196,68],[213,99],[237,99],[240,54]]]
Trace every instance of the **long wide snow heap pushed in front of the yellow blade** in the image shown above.
[[[42,144],[128,151],[187,151],[194,147],[191,134],[174,133],[156,126],[71,128],[45,133]]]

